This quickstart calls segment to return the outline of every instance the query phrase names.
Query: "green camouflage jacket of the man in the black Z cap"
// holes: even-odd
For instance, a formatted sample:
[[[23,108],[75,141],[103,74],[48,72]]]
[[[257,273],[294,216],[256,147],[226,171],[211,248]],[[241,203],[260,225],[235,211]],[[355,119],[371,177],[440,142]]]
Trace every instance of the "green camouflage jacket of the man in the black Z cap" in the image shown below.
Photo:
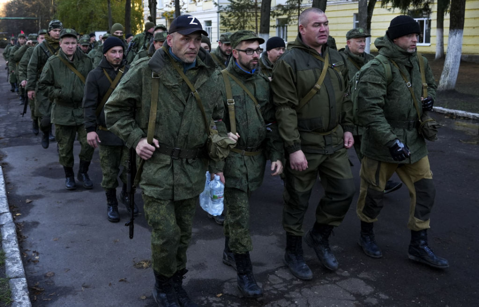
[[[204,148],[208,131],[190,88],[170,62],[167,48],[151,59],[143,58],[130,67],[105,105],[107,128],[127,147],[136,148],[147,136],[152,96],[152,72],[159,77],[158,112],[154,138],[160,144],[182,149]],[[179,63],[182,67],[182,63]],[[208,119],[217,120],[218,131],[226,135],[222,122],[224,107],[218,90],[218,76],[211,56],[200,49],[195,67],[186,71],[197,89]],[[205,187],[207,158],[173,159],[158,150],[146,160],[140,186],[143,193],[164,200],[198,196]],[[222,171],[214,170],[214,171]]]

